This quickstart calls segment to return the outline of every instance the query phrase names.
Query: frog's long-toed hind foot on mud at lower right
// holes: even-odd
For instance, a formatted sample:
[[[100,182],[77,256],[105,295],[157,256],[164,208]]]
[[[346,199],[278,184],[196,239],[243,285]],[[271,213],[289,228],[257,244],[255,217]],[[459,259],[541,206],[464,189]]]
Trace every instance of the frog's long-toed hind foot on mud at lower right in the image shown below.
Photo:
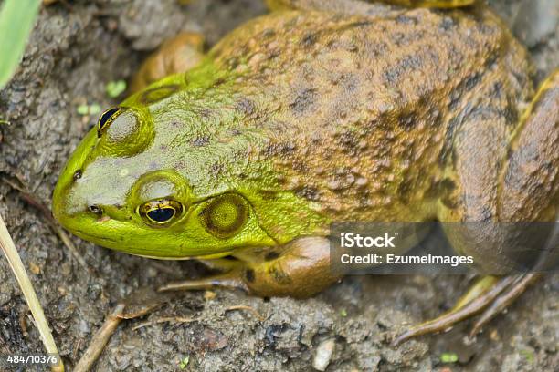
[[[530,284],[537,282],[541,277],[542,274],[519,274],[500,278],[484,276],[473,284],[447,313],[421,323],[397,336],[393,344],[397,346],[416,336],[445,331],[452,325],[481,313],[469,333],[469,336],[475,336],[483,325],[511,305]]]

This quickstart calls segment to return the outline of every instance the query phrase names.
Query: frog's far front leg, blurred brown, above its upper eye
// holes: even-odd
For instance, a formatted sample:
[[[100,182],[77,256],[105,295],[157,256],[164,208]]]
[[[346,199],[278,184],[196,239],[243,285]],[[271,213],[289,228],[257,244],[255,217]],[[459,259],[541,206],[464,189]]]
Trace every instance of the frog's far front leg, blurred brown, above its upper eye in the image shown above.
[[[204,36],[194,32],[182,32],[166,40],[132,78],[131,93],[169,75],[196,67],[204,57],[203,48]]]

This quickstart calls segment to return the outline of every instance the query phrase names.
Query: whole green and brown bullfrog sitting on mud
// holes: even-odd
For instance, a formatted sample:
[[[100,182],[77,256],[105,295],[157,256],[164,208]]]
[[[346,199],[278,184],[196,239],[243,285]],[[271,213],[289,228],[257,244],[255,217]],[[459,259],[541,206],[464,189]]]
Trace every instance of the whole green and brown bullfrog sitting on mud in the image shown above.
[[[146,61],[61,172],[58,222],[219,272],[161,290],[308,297],[341,279],[332,222],[555,221],[559,70],[535,89],[527,51],[490,8],[268,3],[207,54],[181,35]],[[499,239],[490,228],[448,238],[486,269],[513,253],[481,243]],[[483,276],[396,342],[481,313],[477,332],[540,276]]]

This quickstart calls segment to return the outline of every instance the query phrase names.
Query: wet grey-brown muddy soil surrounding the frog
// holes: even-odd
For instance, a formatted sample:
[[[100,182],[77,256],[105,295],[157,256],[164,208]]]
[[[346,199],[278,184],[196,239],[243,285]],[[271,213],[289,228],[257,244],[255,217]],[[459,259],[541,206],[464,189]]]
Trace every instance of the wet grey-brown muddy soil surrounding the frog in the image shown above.
[[[490,1],[530,48],[539,78],[559,60],[556,4]],[[70,370],[119,299],[135,288],[195,277],[203,269],[192,262],[162,264],[115,253],[73,237],[86,270],[40,212],[4,180],[23,184],[48,205],[58,172],[97,119],[80,116],[80,105],[118,103],[121,98],[108,98],[106,84],[130,78],[166,37],[202,31],[211,46],[265,11],[259,0],[67,1],[42,8],[16,77],[0,90],[0,119],[10,123],[0,124],[0,214]],[[550,16],[552,26],[542,26]],[[348,277],[304,301],[221,290],[180,294],[152,315],[123,322],[95,370],[182,370],[186,358],[184,370],[190,371],[311,370],[317,347],[328,340],[334,345],[329,371],[559,370],[557,275],[524,294],[475,340],[465,337],[466,322],[444,335],[389,346],[406,326],[448,309],[472,279],[473,274]],[[231,309],[237,305],[258,315]],[[134,329],[162,316],[194,320]],[[0,258],[0,354],[42,350],[16,281]],[[442,364],[443,353],[456,353],[459,360]]]

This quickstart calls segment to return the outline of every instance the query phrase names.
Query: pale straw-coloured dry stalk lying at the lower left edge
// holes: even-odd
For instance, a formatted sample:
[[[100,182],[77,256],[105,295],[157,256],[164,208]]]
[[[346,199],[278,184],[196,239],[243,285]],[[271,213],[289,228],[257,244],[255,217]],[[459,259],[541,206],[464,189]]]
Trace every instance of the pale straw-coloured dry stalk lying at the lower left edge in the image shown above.
[[[35,324],[37,325],[37,329],[39,331],[39,335],[41,336],[41,340],[47,349],[48,354],[55,354],[58,356],[58,365],[53,366],[53,371],[64,371],[64,365],[62,364],[62,360],[58,354],[57,344],[50,333],[50,328],[48,327],[47,318],[45,318],[45,313],[43,312],[43,307],[38,301],[37,294],[35,293],[35,289],[33,289],[33,284],[29,280],[29,276],[27,276],[26,268],[24,264],[21,262],[21,258],[16,250],[16,245],[10,236],[10,233],[7,231],[5,227],[4,220],[2,216],[0,216],[0,247],[2,251],[5,253],[5,257],[10,263],[10,267],[16,275],[17,283],[21,288],[21,292],[24,294],[26,298],[27,305],[29,306],[29,310],[31,310],[31,314],[35,319]]]

